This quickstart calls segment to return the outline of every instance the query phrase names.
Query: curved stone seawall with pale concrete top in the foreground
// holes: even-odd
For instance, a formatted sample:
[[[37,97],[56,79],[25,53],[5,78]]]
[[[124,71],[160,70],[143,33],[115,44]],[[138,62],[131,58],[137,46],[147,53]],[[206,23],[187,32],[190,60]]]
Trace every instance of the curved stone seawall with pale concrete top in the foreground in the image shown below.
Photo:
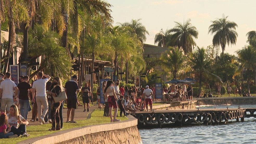
[[[19,143],[142,143],[137,128],[137,119],[133,116],[128,116],[128,118],[121,122],[67,129]]]

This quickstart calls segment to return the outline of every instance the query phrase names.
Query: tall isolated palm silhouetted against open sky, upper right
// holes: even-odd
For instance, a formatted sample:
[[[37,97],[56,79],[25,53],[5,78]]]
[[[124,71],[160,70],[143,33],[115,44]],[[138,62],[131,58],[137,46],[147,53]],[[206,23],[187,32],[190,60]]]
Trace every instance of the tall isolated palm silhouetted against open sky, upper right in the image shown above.
[[[238,34],[236,32],[237,24],[227,20],[228,16],[223,15],[222,18],[217,18],[215,21],[211,21],[212,24],[209,26],[208,34],[214,34],[213,45],[219,47],[221,45],[222,54],[226,44],[236,44]]]

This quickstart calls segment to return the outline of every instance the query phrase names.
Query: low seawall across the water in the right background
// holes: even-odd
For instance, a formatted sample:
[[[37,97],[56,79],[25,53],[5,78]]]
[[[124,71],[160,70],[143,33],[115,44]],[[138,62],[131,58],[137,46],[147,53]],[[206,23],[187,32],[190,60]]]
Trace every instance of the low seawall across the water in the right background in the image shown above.
[[[206,98],[193,98],[197,100],[196,106],[213,106],[213,99],[216,106],[228,105],[248,105],[256,104],[256,97],[206,97]]]

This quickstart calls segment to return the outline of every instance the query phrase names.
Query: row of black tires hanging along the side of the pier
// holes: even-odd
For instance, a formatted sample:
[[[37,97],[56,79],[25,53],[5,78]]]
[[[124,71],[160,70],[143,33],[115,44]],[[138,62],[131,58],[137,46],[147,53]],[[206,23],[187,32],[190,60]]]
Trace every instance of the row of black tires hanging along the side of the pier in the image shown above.
[[[182,122],[184,124],[192,122],[220,122],[223,120],[238,119],[244,117],[245,110],[232,110],[226,112],[211,112],[200,113],[194,115],[183,116],[181,113],[166,113],[166,114],[138,114],[137,119],[139,123],[168,123],[168,122]],[[256,116],[256,115],[255,115]]]

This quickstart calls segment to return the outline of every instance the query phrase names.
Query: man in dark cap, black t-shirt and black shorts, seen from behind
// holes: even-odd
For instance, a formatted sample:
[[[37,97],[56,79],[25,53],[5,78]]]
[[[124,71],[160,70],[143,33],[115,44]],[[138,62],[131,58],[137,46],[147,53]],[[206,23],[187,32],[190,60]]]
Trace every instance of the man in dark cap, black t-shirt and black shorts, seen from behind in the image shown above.
[[[73,75],[71,80],[67,81],[65,84],[65,92],[67,95],[67,122],[76,123],[74,121],[75,116],[75,109],[77,109],[77,94],[79,93],[80,89],[78,84],[76,83],[78,77],[77,75]],[[71,121],[69,120],[71,112]]]

